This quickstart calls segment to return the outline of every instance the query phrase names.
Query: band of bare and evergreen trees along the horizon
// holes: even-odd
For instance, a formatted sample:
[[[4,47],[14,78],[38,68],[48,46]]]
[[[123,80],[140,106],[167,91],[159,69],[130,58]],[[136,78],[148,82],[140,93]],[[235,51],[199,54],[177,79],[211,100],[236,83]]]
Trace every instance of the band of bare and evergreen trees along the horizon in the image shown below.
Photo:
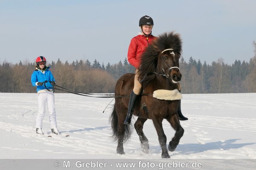
[[[235,60],[226,64],[222,58],[211,65],[192,57],[186,62],[180,58],[183,94],[207,93],[255,93],[256,92],[256,42],[253,42],[254,57],[249,62]],[[76,60],[72,63],[47,63],[51,67],[56,83],[64,88],[83,93],[113,93],[116,80],[125,73],[134,73],[134,67],[127,59],[116,64],[100,64],[87,60]],[[31,74],[35,63],[21,62],[12,64],[0,63],[1,93],[35,93],[31,85]],[[63,93],[63,91],[56,91]]]

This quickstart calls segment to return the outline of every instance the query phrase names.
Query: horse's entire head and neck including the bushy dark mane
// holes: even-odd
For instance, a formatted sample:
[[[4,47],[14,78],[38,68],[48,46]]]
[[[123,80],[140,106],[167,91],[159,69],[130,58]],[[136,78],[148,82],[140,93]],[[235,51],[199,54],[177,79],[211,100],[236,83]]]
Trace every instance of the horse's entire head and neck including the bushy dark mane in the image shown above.
[[[179,58],[181,53],[181,38],[174,32],[158,36],[143,53],[139,68],[140,79],[147,85],[156,75],[165,76],[172,83],[181,79]]]

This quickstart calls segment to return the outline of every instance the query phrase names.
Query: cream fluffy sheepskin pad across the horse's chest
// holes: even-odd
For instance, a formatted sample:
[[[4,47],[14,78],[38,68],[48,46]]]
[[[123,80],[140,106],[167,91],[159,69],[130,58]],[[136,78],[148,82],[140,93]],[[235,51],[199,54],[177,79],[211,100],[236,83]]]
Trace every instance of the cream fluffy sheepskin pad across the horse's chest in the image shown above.
[[[182,99],[182,94],[174,89],[170,90],[156,90],[153,93],[153,97],[161,100],[180,100]]]

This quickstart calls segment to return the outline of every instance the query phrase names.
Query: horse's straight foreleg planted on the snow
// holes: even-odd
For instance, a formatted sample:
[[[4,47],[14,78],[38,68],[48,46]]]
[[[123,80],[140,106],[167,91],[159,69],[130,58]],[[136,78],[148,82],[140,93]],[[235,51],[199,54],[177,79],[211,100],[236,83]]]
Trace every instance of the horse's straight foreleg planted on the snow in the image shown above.
[[[162,158],[170,158],[167,147],[166,147],[166,135],[164,134],[163,131],[163,126],[162,126],[162,121],[163,119],[160,118],[155,118],[152,119],[154,123],[154,127],[157,130],[157,135],[158,135],[158,141],[160,143],[160,146],[162,148]]]

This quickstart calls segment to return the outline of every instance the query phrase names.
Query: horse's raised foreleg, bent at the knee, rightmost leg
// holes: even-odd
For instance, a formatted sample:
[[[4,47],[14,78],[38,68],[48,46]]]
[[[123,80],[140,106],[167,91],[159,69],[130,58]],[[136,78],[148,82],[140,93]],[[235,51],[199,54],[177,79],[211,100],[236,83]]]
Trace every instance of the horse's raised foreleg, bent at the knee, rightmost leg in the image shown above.
[[[180,142],[180,138],[183,136],[184,129],[180,125],[180,121],[177,114],[172,116],[170,119],[167,119],[167,121],[171,124],[171,126],[176,131],[175,135],[172,138],[172,141],[169,142],[169,146],[168,146],[168,149],[170,151],[174,151]]]

